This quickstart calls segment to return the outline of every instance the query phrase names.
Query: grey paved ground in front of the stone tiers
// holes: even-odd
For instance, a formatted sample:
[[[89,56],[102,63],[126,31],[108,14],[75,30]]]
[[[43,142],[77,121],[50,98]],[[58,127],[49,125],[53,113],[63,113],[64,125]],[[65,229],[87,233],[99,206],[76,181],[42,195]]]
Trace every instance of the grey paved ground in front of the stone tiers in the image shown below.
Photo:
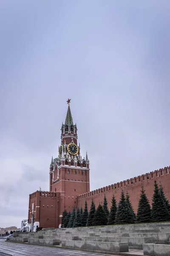
[[[45,247],[32,244],[17,244],[0,240],[0,252],[13,256],[106,256],[102,253],[91,253],[78,250],[67,250],[54,247]],[[141,250],[129,250],[130,254],[143,255]],[[108,256],[110,254],[107,254]],[[128,255],[128,253],[127,253]],[[112,254],[112,256],[114,256]]]

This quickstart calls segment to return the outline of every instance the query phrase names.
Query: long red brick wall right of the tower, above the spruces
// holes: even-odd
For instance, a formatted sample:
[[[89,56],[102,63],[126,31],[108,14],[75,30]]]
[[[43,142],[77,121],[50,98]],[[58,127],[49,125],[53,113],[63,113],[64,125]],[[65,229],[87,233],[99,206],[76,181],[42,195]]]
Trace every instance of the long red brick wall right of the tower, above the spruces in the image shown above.
[[[140,175],[138,177],[133,177],[128,180],[124,180],[119,183],[115,183],[101,189],[96,189],[94,191],[78,195],[77,196],[77,206],[83,207],[85,205],[85,200],[88,203],[88,209],[91,206],[91,200],[94,199],[96,207],[99,203],[103,203],[104,195],[106,195],[108,201],[108,207],[111,207],[111,199],[113,194],[116,197],[116,201],[119,202],[122,190],[126,193],[128,191],[130,195],[130,201],[132,202],[135,212],[137,212],[138,202],[140,198],[141,186],[144,186],[147,198],[152,201],[154,180],[157,181],[159,185],[164,188],[165,196],[170,200],[170,167],[165,167],[164,169],[156,170],[155,172],[146,173],[145,175]]]

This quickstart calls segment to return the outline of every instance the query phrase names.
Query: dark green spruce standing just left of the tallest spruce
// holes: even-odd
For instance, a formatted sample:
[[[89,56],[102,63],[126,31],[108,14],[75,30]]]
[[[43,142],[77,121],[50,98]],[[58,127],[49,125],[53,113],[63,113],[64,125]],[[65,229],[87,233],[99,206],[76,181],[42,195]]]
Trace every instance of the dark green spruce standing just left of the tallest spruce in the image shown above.
[[[137,223],[151,222],[151,207],[150,207],[149,200],[144,191],[145,190],[142,187],[139,204],[138,204],[138,211],[136,215]]]

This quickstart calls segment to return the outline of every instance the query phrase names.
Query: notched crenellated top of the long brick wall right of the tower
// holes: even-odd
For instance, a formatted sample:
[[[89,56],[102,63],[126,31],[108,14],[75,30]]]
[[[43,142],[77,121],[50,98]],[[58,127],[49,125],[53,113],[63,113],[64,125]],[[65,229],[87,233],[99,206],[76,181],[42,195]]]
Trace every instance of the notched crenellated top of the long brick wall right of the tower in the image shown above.
[[[77,199],[80,200],[82,198],[87,198],[89,196],[98,195],[98,194],[105,193],[105,192],[108,192],[111,190],[112,191],[119,190],[122,188],[125,189],[125,187],[128,187],[128,186],[131,186],[131,187],[137,186],[137,185],[142,186],[142,184],[144,185],[144,183],[147,182],[147,180],[151,180],[154,178],[157,180],[162,179],[162,178],[166,177],[166,175],[169,175],[169,173],[170,173],[170,166],[167,166],[167,167],[161,168],[159,170],[147,172],[145,174],[138,175],[137,177],[133,177],[133,178],[130,178],[127,180],[123,180],[123,181],[108,185],[108,186],[104,186],[100,189],[95,189],[90,192],[87,192],[87,193],[84,193],[81,195],[77,195]]]

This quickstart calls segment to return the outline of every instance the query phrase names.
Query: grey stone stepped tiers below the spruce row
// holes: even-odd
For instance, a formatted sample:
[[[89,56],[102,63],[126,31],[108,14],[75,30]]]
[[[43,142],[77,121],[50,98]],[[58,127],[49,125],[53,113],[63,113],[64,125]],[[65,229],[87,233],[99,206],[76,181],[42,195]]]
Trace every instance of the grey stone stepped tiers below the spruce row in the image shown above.
[[[136,249],[140,250],[136,255],[170,256],[170,223],[43,229],[14,233],[9,241],[127,255]]]

